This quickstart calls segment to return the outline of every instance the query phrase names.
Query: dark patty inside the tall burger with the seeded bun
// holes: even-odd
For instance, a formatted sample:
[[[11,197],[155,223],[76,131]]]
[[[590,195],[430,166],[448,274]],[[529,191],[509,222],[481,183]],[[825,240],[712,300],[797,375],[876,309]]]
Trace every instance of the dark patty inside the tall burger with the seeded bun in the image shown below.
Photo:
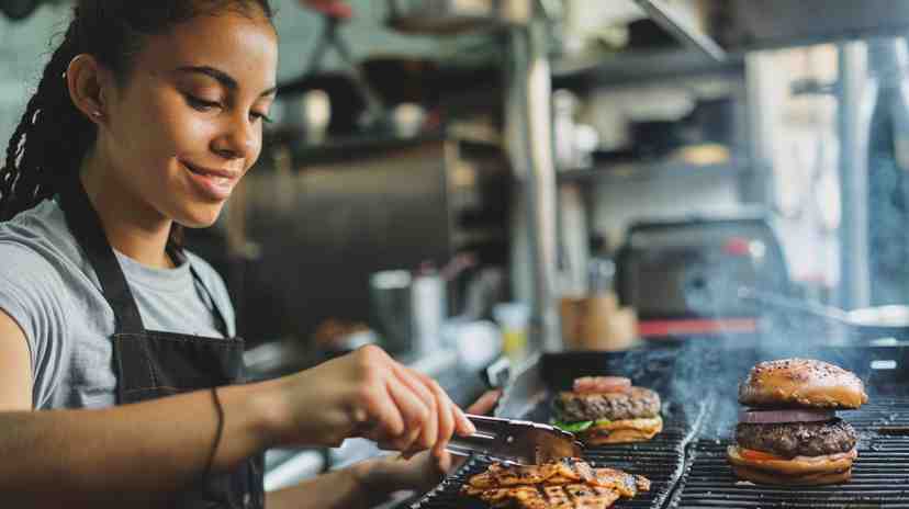
[[[852,425],[841,419],[778,425],[740,423],[736,427],[736,441],[740,446],[787,459],[849,452],[856,440]]]

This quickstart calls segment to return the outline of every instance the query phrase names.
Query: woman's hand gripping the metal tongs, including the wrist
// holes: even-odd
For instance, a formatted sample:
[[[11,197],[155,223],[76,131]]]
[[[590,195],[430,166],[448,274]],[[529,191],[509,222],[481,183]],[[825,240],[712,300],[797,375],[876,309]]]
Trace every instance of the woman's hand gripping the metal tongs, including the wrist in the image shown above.
[[[362,437],[405,455],[431,448],[441,456],[453,433],[474,431],[435,381],[378,347],[266,384],[280,444],[337,446]]]

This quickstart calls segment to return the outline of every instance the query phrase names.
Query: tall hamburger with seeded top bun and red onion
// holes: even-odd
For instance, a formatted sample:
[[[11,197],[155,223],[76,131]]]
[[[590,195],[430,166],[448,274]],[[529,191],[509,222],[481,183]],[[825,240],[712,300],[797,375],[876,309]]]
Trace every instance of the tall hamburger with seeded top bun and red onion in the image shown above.
[[[827,362],[761,362],[739,385],[736,443],[727,449],[732,471],[760,484],[844,483],[857,457],[857,437],[837,410],[856,409],[868,396],[855,374]]]

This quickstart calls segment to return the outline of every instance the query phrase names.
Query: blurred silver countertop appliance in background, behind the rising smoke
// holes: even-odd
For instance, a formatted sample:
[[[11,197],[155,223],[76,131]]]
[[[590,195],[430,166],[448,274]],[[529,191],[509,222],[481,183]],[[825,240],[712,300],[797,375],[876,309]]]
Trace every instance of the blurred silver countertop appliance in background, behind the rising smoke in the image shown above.
[[[616,267],[619,299],[641,320],[752,317],[739,287],[789,289],[782,247],[761,213],[635,223]]]

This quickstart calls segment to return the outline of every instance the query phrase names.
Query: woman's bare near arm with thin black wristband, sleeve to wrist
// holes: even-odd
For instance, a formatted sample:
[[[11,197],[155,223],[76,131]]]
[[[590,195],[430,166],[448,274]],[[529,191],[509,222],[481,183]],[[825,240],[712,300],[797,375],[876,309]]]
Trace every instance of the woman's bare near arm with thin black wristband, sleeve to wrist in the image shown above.
[[[0,310],[0,494],[10,507],[165,507],[212,451],[210,392],[103,410],[32,411],[31,360]],[[213,470],[269,445],[268,399],[255,386],[218,389],[224,434]]]

